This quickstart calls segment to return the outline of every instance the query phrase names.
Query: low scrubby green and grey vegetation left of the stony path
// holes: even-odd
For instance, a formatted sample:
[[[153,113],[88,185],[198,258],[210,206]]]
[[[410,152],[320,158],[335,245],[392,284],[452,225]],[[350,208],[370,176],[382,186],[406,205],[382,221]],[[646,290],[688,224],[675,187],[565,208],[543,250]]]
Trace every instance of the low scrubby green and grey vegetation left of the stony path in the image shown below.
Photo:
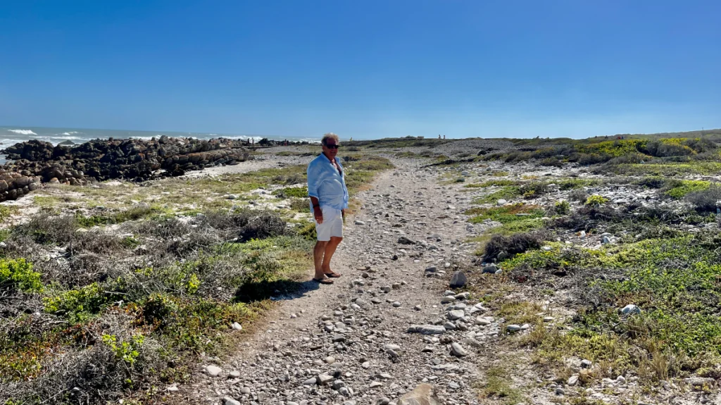
[[[343,159],[351,193],[392,167]],[[2,233],[0,404],[159,401],[198,355],[229,352],[307,280],[305,182],[287,166],[38,195],[40,213]]]

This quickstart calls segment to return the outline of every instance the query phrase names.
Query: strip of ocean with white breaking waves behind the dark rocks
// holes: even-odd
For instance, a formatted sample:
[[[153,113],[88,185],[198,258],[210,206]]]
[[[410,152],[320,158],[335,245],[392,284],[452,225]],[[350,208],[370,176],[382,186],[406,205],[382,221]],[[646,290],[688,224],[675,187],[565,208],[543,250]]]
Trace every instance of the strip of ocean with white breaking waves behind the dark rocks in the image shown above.
[[[317,139],[309,138],[293,138],[293,137],[273,137],[273,136],[258,136],[258,135],[233,135],[226,133],[194,133],[194,132],[167,132],[167,131],[147,131],[147,130],[96,130],[86,128],[43,128],[43,127],[15,127],[15,126],[0,126],[0,149],[12,146],[15,143],[22,141],[30,141],[31,139],[38,139],[40,141],[47,141],[53,145],[57,145],[63,141],[72,141],[73,143],[79,144],[90,141],[92,139],[127,139],[127,138],[139,138],[139,139],[150,139],[153,137],[159,138],[161,135],[167,135],[175,138],[198,138],[198,139],[211,139],[211,138],[233,138],[233,139],[253,139],[256,142],[262,138],[273,139],[275,141],[308,141],[318,142]]]

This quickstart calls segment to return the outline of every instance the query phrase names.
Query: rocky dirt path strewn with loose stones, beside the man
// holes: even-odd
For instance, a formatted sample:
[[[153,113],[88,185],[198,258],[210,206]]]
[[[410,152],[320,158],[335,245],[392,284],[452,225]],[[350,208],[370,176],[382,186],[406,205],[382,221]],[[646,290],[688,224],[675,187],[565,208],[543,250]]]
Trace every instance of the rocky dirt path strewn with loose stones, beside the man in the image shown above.
[[[467,293],[446,291],[472,259],[460,214],[469,200],[438,185],[435,172],[397,165],[358,195],[363,208],[347,221],[335,285],[283,302],[234,357],[199,364],[197,382],[177,399],[400,405],[414,404],[402,396],[428,383],[439,400],[428,404],[479,403],[479,352],[498,325]]]

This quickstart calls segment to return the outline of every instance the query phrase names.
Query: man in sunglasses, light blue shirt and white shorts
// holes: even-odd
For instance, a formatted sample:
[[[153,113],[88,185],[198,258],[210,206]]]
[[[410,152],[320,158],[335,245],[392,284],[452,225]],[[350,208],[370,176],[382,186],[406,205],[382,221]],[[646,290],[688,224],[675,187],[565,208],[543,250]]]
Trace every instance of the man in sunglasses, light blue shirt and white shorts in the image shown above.
[[[313,280],[321,284],[332,284],[331,278],[340,277],[330,268],[330,259],[343,240],[343,218],[348,208],[343,166],[336,157],[340,147],[338,141],[335,133],[323,135],[323,153],[308,165],[308,195],[311,197],[311,213],[318,233],[318,241],[313,249]]]

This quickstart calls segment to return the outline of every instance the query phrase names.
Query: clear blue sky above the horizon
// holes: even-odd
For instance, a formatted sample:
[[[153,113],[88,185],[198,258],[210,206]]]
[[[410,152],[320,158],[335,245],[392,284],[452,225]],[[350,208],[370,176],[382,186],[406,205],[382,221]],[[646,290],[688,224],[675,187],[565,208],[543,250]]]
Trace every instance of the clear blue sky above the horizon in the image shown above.
[[[342,138],[721,127],[721,1],[4,1],[0,124]]]

